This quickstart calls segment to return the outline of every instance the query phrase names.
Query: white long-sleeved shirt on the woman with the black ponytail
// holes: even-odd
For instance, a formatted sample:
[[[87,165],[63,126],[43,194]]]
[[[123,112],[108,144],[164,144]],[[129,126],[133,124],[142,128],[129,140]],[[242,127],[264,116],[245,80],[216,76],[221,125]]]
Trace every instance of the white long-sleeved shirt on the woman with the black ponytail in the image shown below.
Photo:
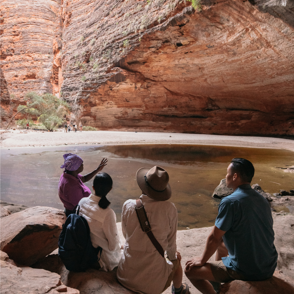
[[[121,240],[116,227],[116,215],[109,207],[105,209],[99,207],[100,199],[101,197],[93,194],[82,198],[78,203],[79,215],[88,222],[92,245],[103,249],[99,260],[100,270],[107,272],[118,265],[123,250],[121,250]]]

